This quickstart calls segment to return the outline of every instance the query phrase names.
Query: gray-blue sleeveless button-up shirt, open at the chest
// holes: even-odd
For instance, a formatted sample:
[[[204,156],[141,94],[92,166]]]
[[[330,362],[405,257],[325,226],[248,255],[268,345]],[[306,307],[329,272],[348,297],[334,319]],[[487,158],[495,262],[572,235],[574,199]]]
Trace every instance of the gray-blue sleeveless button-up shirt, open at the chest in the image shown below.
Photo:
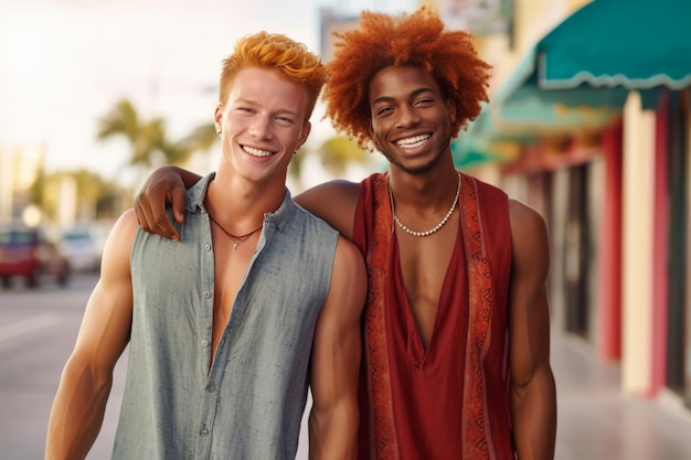
[[[338,234],[286,189],[264,228],[211,365],[214,249],[188,191],[180,242],[138,232],[134,314],[114,459],[294,459],[317,317]],[[211,366],[211,367],[210,367]]]

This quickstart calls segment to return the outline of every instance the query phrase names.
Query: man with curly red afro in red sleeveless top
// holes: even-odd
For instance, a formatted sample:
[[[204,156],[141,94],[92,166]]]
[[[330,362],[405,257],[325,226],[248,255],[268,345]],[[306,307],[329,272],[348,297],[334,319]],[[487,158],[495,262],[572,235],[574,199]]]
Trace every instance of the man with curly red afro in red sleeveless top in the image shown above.
[[[552,459],[546,226],[451,156],[487,100],[489,66],[426,8],[363,12],[337,39],[327,115],[389,171],[296,201],[368,264],[359,458]],[[170,169],[149,179],[137,203],[145,229],[176,236],[163,204],[182,192],[179,174],[193,182]]]

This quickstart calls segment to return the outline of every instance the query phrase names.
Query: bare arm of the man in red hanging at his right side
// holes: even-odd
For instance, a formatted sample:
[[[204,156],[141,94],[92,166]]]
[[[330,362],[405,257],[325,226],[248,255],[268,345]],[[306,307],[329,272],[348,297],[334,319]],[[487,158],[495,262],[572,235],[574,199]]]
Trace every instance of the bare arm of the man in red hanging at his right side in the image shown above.
[[[550,265],[544,221],[510,203],[513,263],[509,292],[511,409],[520,460],[554,458],[556,389],[550,365]]]

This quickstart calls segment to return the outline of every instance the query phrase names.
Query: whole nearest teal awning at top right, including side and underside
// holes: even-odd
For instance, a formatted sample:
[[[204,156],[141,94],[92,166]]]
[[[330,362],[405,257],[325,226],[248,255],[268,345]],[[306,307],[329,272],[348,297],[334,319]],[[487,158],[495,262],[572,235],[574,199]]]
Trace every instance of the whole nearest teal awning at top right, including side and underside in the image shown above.
[[[497,94],[567,107],[620,108],[630,89],[655,106],[691,86],[690,0],[594,0],[548,33]]]

